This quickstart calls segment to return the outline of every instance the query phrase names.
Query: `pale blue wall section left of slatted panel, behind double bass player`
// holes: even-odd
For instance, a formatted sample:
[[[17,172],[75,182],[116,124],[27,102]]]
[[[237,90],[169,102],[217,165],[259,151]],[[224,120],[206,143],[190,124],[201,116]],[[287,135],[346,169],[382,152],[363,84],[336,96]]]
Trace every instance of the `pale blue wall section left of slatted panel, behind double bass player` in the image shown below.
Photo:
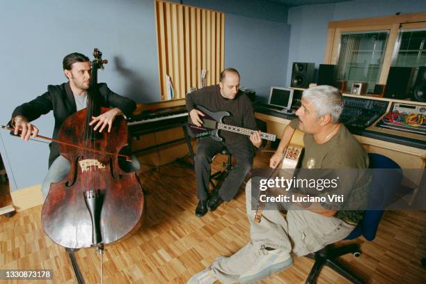
[[[99,81],[139,102],[157,100],[154,15],[153,1],[1,1],[1,123],[7,123],[18,104],[44,93],[48,84],[66,81],[63,56],[78,51],[92,57],[93,47],[109,59]],[[52,135],[52,114],[34,123],[40,134]],[[47,173],[47,144],[0,135],[11,189],[40,184]]]

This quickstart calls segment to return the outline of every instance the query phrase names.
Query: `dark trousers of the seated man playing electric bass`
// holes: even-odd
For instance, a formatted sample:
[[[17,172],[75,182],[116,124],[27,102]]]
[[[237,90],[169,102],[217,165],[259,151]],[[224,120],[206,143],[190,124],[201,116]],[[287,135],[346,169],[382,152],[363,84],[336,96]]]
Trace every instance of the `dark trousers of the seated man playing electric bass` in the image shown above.
[[[210,137],[199,139],[195,156],[198,200],[206,200],[208,198],[212,159],[224,147],[228,148],[231,155],[235,157],[237,164],[232,168],[228,177],[223,180],[223,184],[219,189],[219,196],[223,200],[229,201],[237,194],[239,187],[244,182],[244,178],[251,171],[254,151],[253,144],[248,139],[238,139],[234,143],[217,142]]]

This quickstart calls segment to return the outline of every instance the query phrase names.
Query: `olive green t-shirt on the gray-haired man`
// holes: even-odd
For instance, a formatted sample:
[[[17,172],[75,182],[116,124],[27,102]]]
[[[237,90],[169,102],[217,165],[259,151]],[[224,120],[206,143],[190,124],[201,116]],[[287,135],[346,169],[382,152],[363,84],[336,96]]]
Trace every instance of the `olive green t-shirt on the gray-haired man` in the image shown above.
[[[299,129],[299,119],[290,122],[290,127]],[[342,169],[361,169],[351,171],[350,175],[340,180],[342,187],[339,191],[344,194],[344,203],[322,203],[322,207],[329,210],[337,210],[334,216],[356,225],[363,218],[363,210],[344,210],[346,208],[362,207],[368,200],[368,177],[362,169],[368,168],[368,155],[363,146],[349,132],[345,125],[340,125],[338,132],[326,143],[315,142],[313,134],[303,136],[304,154],[301,168],[321,168],[336,171],[342,175]],[[347,171],[345,171],[347,173]],[[321,191],[317,191],[321,196]],[[346,205],[346,206],[345,206]]]

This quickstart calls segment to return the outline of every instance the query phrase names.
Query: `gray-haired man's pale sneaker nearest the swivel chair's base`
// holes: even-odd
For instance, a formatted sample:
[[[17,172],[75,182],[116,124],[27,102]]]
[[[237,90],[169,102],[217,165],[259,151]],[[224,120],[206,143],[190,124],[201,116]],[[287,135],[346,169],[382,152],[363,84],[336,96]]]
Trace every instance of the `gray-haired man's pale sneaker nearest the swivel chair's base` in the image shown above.
[[[265,254],[260,255],[253,267],[239,276],[240,283],[255,283],[271,274],[281,272],[293,264],[293,258],[287,251],[278,248],[273,251],[267,251],[266,248],[262,248],[262,250]]]

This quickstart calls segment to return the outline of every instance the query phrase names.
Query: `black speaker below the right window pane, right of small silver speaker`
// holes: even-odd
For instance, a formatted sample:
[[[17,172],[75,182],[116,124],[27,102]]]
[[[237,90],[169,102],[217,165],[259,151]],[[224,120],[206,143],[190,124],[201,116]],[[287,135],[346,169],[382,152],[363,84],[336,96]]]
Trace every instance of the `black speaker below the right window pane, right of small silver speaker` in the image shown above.
[[[385,97],[393,99],[409,97],[413,74],[414,68],[411,67],[391,67],[386,81]]]

